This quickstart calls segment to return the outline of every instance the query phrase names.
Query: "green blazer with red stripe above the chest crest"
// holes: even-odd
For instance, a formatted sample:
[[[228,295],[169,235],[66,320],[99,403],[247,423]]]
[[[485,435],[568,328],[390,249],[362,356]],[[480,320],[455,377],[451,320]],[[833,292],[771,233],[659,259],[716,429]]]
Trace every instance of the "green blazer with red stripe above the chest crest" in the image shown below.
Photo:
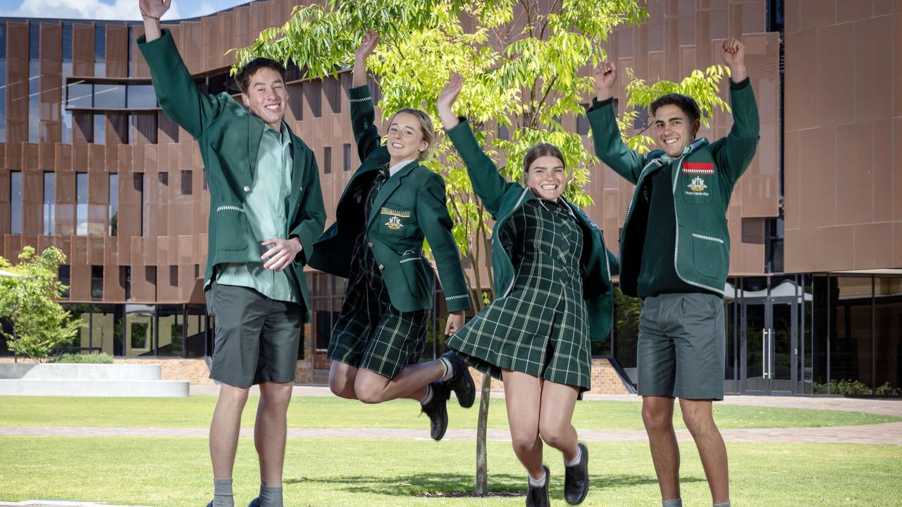
[[[621,232],[621,289],[636,296],[643,248],[673,254],[676,275],[682,281],[723,296],[730,271],[730,232],[726,212],[736,180],[749,167],[759,138],[758,106],[748,78],[730,84],[733,125],[723,139],[700,139],[692,149],[670,161],[655,150],[643,157],[621,140],[611,101],[595,103],[588,112],[595,154],[612,170],[636,185]],[[676,244],[645,241],[647,224],[630,218],[636,207],[649,204],[643,195],[648,176],[673,168]],[[657,190],[656,190],[657,191]]]

